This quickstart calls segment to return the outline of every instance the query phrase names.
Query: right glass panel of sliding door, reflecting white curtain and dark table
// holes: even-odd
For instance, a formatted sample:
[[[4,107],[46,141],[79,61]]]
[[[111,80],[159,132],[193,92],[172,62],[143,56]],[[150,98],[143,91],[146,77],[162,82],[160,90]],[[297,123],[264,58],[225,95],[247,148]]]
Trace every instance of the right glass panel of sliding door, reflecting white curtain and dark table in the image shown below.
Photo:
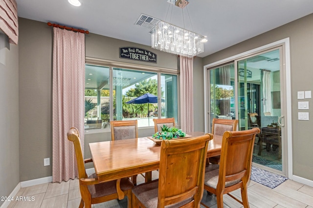
[[[280,50],[236,61],[238,72],[239,130],[260,128],[252,162],[283,171],[281,117]]]

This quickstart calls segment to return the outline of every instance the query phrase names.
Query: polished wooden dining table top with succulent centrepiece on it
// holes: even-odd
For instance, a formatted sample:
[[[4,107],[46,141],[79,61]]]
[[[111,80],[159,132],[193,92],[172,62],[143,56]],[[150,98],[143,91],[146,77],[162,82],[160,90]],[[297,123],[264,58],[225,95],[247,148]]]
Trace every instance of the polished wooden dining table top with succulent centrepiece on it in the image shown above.
[[[189,132],[193,137],[203,132]],[[207,157],[221,154],[222,136],[213,135],[209,141]],[[89,143],[89,149],[99,181],[146,173],[151,180],[151,171],[159,169],[160,145],[148,137]]]

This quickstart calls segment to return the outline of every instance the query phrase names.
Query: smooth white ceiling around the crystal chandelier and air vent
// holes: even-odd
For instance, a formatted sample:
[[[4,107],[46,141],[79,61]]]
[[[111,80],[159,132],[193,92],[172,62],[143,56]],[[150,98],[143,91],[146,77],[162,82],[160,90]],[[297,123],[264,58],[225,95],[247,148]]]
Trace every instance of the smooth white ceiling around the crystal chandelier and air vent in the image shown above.
[[[81,0],[80,7],[67,0],[16,1],[19,17],[151,46],[150,29],[134,25],[143,13],[207,36],[199,57],[313,13],[313,0],[189,0],[183,10],[167,0]]]

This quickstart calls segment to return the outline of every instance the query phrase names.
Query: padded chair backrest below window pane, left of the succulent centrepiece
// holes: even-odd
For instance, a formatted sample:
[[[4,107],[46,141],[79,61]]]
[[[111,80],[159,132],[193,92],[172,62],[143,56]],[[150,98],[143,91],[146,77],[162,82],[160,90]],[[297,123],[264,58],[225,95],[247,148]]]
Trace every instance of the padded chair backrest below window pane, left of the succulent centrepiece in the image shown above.
[[[112,141],[138,138],[137,120],[111,121],[110,125]]]

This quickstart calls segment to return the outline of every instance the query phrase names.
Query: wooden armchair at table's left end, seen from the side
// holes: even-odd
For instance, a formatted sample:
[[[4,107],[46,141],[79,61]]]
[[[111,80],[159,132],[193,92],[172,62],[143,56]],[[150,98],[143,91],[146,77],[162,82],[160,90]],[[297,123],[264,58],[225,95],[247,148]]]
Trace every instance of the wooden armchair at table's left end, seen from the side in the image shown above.
[[[92,162],[92,159],[83,158],[82,147],[80,144],[79,132],[76,128],[71,128],[67,132],[67,139],[74,144],[79,189],[82,200],[79,207],[91,208],[91,204],[107,202],[113,199],[123,199],[125,195],[128,198],[128,208],[132,206],[132,188],[134,184],[129,178],[122,178],[110,182],[101,183],[98,181],[96,173],[88,176],[85,170],[85,163]]]

